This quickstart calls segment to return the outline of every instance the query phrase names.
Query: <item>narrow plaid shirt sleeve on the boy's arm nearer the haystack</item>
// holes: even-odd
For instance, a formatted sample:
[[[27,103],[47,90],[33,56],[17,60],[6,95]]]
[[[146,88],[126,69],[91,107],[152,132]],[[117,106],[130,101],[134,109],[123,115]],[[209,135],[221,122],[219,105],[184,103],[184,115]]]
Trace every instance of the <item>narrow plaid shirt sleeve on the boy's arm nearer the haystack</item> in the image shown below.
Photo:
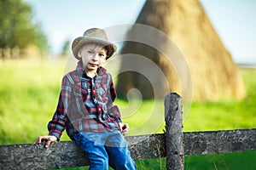
[[[110,77],[110,87],[108,93],[108,115],[113,117],[116,122],[122,122],[119,107],[117,105],[113,105],[113,102],[116,99],[116,91],[113,86],[112,77]]]

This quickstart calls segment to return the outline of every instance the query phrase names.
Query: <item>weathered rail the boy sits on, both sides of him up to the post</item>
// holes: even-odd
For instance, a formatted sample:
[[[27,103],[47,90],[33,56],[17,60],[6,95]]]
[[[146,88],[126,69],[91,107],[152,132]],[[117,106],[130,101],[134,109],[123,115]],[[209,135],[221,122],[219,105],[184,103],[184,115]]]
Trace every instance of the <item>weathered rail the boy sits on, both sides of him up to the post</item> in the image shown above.
[[[162,134],[126,137],[134,160],[166,156]],[[84,153],[73,141],[44,144],[0,145],[0,169],[49,169],[88,166]]]

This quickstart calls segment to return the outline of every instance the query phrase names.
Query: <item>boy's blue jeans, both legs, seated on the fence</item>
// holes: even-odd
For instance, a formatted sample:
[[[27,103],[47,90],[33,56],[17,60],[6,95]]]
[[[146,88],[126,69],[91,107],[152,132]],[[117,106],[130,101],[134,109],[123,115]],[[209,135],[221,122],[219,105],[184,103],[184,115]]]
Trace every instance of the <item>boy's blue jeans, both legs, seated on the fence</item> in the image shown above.
[[[119,131],[109,132],[105,129],[105,133],[81,132],[73,138],[84,150],[91,170],[108,170],[108,166],[118,170],[137,169],[125,138]]]

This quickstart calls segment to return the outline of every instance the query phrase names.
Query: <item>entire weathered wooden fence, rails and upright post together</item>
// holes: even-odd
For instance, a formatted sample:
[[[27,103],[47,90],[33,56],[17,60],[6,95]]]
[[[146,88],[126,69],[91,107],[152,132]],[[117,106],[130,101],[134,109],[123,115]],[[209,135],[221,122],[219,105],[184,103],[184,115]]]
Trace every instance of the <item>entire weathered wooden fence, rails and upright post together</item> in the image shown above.
[[[182,102],[166,95],[166,133],[125,137],[135,161],[166,157],[166,169],[183,169],[184,156],[256,150],[256,129],[182,132]],[[73,142],[0,145],[0,169],[52,169],[88,166]]]

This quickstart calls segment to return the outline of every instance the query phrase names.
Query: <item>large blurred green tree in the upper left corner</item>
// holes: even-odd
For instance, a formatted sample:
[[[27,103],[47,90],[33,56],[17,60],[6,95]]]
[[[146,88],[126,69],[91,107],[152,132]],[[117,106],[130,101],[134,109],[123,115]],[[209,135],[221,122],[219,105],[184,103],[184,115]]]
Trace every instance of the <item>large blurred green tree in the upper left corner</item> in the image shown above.
[[[47,38],[38,24],[32,22],[32,7],[21,0],[0,0],[0,48],[26,48],[29,44],[44,50]]]

